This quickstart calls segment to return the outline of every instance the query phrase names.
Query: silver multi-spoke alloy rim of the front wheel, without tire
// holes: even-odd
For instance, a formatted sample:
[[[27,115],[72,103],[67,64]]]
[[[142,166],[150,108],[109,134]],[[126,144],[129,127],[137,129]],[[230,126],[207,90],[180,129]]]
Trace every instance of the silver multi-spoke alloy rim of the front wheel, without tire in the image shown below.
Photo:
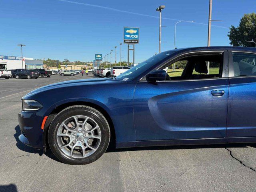
[[[67,118],[60,124],[56,139],[64,154],[72,158],[84,158],[98,149],[101,131],[92,118],[77,115]]]

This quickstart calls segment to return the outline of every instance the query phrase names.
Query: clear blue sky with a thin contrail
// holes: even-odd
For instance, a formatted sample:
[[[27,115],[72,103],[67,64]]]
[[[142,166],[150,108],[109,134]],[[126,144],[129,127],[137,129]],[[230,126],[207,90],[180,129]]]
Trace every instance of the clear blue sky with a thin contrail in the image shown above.
[[[208,0],[1,0],[0,55],[20,56],[17,44],[26,44],[25,57],[92,61],[94,54],[118,46],[119,62],[123,27],[130,26],[140,27],[135,62],[142,62],[158,52],[161,4],[166,6],[162,51],[173,49],[178,20],[196,23],[177,24],[176,47],[207,45]],[[228,27],[255,10],[255,0],[213,0],[212,19],[223,21],[212,23],[211,46],[229,46]],[[122,60],[127,60],[126,44]]]

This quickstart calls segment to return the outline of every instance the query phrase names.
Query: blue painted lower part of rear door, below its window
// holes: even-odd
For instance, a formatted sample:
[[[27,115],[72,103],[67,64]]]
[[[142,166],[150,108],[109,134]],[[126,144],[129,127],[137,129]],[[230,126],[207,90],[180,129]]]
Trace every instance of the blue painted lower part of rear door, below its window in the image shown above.
[[[256,136],[256,77],[230,78],[227,137]]]

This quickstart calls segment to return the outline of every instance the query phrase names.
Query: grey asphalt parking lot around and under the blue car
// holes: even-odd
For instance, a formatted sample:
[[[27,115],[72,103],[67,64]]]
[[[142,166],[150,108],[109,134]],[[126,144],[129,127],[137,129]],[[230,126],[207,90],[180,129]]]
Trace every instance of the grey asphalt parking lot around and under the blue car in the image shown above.
[[[66,165],[18,140],[20,98],[65,80],[0,79],[0,191],[256,191],[256,144],[107,150],[88,165]]]

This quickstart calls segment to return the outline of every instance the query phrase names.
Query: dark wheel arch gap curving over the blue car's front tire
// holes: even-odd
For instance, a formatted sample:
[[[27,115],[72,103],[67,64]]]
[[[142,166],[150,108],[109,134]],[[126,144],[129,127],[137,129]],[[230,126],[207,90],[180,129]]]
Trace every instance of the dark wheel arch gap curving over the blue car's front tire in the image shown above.
[[[114,128],[114,123],[110,117],[110,115],[108,114],[108,112],[102,107],[99,106],[97,104],[94,104],[92,102],[85,102],[85,101],[74,101],[74,102],[66,102],[64,104],[61,104],[59,106],[57,106],[56,108],[54,108],[50,114],[48,115],[48,118],[44,124],[44,132],[43,132],[43,145],[44,145],[44,151],[46,151],[49,148],[48,145],[48,129],[50,127],[51,122],[54,120],[55,116],[61,112],[63,109],[69,107],[69,106],[73,106],[73,105],[84,105],[84,106],[90,106],[92,108],[95,108],[96,110],[98,110],[99,112],[101,112],[104,117],[106,118],[106,120],[108,121],[108,124],[110,126],[110,143],[109,143],[109,147],[111,148],[115,148],[116,146],[116,132],[115,132],[115,128]]]

